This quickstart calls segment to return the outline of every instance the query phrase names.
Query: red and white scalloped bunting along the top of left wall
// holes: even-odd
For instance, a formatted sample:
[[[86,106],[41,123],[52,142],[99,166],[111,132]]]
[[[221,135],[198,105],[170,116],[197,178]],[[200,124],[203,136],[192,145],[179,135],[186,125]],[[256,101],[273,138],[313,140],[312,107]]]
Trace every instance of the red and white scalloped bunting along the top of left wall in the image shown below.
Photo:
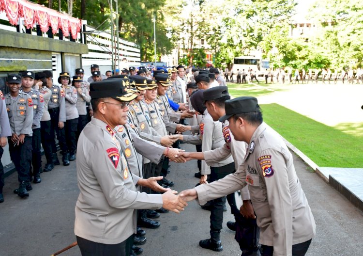
[[[24,26],[27,29],[38,24],[42,32],[47,32],[51,27],[52,33],[55,34],[61,29],[64,36],[71,35],[73,39],[76,39],[77,33],[81,31],[80,19],[27,0],[0,0],[0,11],[6,13],[10,24],[14,26],[18,24],[19,18],[24,18]]]

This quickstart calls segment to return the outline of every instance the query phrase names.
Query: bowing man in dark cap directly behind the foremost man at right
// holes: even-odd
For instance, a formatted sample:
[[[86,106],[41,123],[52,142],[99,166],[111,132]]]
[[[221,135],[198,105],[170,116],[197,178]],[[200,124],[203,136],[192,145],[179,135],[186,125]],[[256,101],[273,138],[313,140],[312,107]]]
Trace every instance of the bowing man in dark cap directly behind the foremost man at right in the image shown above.
[[[213,121],[218,121],[220,117],[225,115],[225,101],[230,99],[227,86],[218,86],[205,90],[203,99],[207,107],[208,113],[212,116]],[[234,170],[243,163],[243,158],[246,154],[246,144],[244,142],[236,141],[233,134],[230,132],[229,123],[225,120],[222,123],[222,132],[225,140],[223,147],[205,152],[188,153],[182,152],[181,155],[189,159],[205,160],[208,165],[212,165],[221,160],[225,160],[232,155],[234,160]],[[234,172],[234,171],[233,171]],[[256,215],[251,204],[250,194],[248,187],[244,187],[241,191],[243,205],[237,208],[234,194],[227,196],[228,203],[231,207],[231,212],[235,217],[236,223],[227,222],[227,226],[236,231],[235,239],[240,244],[242,256],[259,256],[259,228],[256,223]],[[241,210],[241,212],[240,212]],[[236,230],[237,229],[237,230]]]

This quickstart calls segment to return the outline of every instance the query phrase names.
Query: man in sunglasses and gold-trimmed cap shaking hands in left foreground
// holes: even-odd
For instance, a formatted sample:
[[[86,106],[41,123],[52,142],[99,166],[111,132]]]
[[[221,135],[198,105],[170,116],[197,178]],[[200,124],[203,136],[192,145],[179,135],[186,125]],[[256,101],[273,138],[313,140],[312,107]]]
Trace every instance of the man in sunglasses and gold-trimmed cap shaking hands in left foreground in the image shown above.
[[[127,256],[136,233],[136,208],[179,212],[186,205],[176,192],[157,184],[161,177],[143,179],[130,171],[115,128],[126,123],[127,104],[135,97],[120,79],[91,84],[94,116],[79,136],[76,162],[75,234],[82,255]],[[164,193],[140,193],[136,184]]]

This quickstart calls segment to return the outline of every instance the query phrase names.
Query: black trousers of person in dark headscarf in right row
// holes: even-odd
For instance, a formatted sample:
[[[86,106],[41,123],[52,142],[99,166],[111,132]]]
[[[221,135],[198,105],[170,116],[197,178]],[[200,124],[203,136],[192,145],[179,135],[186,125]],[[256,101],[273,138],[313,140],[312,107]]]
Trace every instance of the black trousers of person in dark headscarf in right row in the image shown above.
[[[234,162],[220,167],[211,167],[211,175],[209,178],[210,182],[221,179],[234,171]],[[211,230],[219,231],[222,229],[223,223],[223,205],[226,202],[225,197],[220,197],[209,201],[211,203]]]

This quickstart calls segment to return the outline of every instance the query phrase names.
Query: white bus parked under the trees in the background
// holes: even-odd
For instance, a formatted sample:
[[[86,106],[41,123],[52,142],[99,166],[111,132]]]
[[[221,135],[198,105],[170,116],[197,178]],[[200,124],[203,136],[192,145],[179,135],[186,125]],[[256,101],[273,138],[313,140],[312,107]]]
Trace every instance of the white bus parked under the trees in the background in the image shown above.
[[[264,70],[270,68],[270,62],[267,60],[261,60],[255,56],[240,56],[233,60],[232,71],[233,74],[237,75],[237,69],[242,71],[248,71],[252,69],[257,72],[257,76],[263,76]]]

